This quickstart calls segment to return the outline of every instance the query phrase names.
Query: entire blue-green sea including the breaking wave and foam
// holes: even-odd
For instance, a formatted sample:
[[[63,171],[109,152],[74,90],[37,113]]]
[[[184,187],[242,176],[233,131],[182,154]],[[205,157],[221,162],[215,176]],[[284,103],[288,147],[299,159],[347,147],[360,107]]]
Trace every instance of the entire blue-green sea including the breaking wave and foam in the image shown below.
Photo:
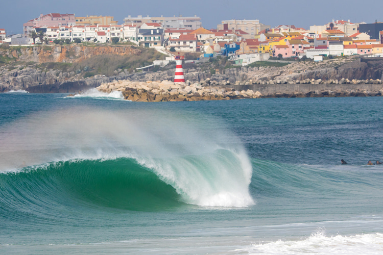
[[[382,97],[121,98],[0,94],[1,254],[383,253]]]

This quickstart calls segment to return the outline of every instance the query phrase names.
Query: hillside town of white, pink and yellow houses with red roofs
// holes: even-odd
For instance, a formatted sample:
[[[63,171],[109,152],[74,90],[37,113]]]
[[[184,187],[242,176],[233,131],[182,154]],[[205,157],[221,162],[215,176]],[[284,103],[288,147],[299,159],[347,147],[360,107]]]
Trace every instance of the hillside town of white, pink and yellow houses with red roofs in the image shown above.
[[[329,56],[366,55],[383,57],[383,23],[330,20],[308,29],[295,25],[270,25],[253,20],[222,20],[217,28],[205,29],[201,18],[149,17],[124,19],[113,16],[78,17],[49,13],[23,24],[23,34],[7,35],[0,29],[0,44],[39,45],[62,43],[132,43],[168,52],[201,53],[201,57],[227,56],[235,65],[256,61]]]

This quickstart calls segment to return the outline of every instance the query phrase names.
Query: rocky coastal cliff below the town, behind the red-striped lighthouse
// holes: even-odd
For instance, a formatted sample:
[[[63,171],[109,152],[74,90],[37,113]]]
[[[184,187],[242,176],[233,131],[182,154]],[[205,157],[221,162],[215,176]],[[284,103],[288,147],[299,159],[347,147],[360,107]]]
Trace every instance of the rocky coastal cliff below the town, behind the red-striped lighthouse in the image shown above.
[[[30,93],[77,93],[114,81],[173,81],[175,65],[168,65],[156,71],[136,72],[126,63],[137,60],[144,65],[148,63],[155,50],[152,52],[143,50],[147,49],[132,46],[84,45],[0,49],[3,59],[14,61],[13,65],[0,67],[0,92],[26,90]],[[126,59],[132,56],[133,60]],[[160,58],[160,54],[153,57],[153,59]],[[115,64],[113,61],[119,62]],[[264,66],[218,66],[217,69],[214,69],[213,67],[217,66],[213,66],[210,62],[185,64],[185,81],[188,84],[198,83],[203,87],[218,86],[239,91],[243,89],[238,89],[238,86],[247,86],[243,88],[271,95],[291,94],[292,90],[302,93],[320,91],[321,84],[332,84],[332,86],[352,84],[352,88],[346,89],[361,91],[373,89],[373,92],[376,92],[380,88],[378,90],[368,86],[364,88],[361,84],[381,84],[383,79],[383,60],[373,58],[337,58],[318,63],[302,61],[283,63],[284,66],[280,67],[271,66],[269,63],[272,62],[266,62]],[[109,75],[98,74],[100,66],[110,67],[108,70],[102,69]],[[294,86],[297,84],[313,86],[309,89],[307,88],[309,86]],[[328,90],[339,89],[344,90],[343,87]]]

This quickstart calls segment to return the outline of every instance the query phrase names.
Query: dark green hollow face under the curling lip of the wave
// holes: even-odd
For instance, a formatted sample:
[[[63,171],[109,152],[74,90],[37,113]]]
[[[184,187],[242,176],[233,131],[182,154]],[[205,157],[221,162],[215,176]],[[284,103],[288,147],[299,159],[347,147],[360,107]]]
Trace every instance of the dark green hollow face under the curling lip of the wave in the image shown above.
[[[56,210],[58,205],[132,211],[172,210],[183,203],[171,186],[133,159],[66,161],[0,174],[4,211],[25,205]]]

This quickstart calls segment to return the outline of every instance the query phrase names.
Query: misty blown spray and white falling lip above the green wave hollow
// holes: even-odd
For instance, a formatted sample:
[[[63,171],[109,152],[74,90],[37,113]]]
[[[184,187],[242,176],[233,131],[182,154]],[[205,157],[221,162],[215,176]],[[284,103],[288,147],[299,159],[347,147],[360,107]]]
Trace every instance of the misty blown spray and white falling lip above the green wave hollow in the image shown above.
[[[5,125],[0,138],[2,171],[75,159],[135,159],[172,185],[186,203],[254,203],[245,149],[219,121],[207,123],[204,116],[73,108],[40,112]]]

